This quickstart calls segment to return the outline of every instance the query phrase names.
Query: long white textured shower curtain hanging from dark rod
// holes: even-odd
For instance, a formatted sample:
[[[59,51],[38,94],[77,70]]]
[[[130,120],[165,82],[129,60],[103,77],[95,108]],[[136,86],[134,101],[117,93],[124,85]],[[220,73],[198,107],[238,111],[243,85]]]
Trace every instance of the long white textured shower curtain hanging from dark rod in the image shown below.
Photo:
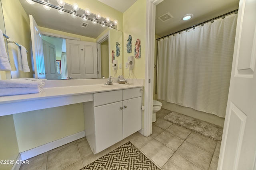
[[[225,117],[237,14],[158,41],[157,98]]]

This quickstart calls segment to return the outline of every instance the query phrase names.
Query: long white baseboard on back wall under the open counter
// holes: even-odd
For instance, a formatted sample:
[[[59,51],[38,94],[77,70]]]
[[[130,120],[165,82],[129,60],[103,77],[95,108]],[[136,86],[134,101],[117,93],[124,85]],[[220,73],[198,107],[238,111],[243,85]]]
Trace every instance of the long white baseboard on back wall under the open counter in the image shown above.
[[[32,158],[34,156],[37,156],[39,154],[42,154],[44,152],[47,152],[49,150],[58,148],[62,145],[66,145],[67,143],[76,141],[77,139],[80,139],[82,137],[85,137],[85,131],[78,132],[74,135],[70,135],[68,137],[64,137],[62,139],[58,139],[56,141],[46,143],[45,145],[27,150],[25,152],[20,153],[21,160],[27,160],[29,158]]]

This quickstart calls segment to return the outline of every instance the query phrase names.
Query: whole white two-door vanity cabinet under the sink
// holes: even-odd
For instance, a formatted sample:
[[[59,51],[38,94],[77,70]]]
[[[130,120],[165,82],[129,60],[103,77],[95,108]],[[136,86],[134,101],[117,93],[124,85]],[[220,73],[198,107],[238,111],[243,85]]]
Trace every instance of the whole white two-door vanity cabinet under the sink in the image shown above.
[[[142,88],[95,93],[84,103],[86,139],[94,154],[142,127]],[[93,103],[93,106],[92,106]]]

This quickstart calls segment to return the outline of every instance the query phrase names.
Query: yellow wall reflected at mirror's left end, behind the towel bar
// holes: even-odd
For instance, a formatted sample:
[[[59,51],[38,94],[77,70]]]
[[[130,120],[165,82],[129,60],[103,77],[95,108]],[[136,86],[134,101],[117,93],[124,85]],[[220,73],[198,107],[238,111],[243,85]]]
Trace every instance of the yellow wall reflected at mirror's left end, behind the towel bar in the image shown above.
[[[12,78],[32,77],[33,75],[30,48],[31,36],[28,16],[22,8],[20,2],[17,0],[2,0],[2,6],[6,35],[10,37],[9,41],[16,41],[20,45],[24,46],[28,51],[27,56],[30,72],[18,71],[18,46],[14,43],[8,43],[8,52],[10,57],[10,64],[12,67]]]

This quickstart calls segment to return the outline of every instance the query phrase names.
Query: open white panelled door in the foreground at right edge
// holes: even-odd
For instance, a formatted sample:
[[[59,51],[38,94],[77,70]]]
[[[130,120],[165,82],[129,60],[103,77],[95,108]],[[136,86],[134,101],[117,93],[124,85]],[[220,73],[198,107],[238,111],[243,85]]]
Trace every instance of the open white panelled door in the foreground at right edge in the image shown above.
[[[256,0],[240,0],[218,170],[256,170]]]

